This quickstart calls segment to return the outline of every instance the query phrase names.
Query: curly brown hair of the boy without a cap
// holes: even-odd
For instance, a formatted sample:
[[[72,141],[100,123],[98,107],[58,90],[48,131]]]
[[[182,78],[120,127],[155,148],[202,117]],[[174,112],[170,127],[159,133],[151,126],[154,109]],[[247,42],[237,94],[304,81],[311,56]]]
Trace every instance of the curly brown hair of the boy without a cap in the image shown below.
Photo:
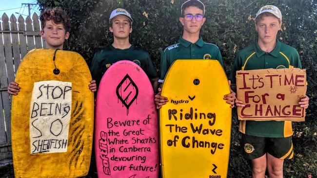
[[[46,8],[40,13],[40,22],[42,30],[45,27],[46,20],[53,20],[55,24],[62,23],[66,32],[70,30],[70,18],[67,16],[66,12],[59,7]]]

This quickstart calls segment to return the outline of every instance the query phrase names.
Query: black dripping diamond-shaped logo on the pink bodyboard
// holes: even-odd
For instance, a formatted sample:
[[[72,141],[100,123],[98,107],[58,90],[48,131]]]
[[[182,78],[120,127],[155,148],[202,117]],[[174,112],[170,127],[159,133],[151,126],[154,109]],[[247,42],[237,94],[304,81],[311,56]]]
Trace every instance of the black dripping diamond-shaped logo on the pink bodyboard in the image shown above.
[[[122,105],[127,108],[127,115],[129,114],[129,107],[137,99],[139,94],[139,89],[134,81],[131,79],[129,74],[126,74],[125,77],[121,80],[117,86],[117,96],[118,99],[122,102]]]

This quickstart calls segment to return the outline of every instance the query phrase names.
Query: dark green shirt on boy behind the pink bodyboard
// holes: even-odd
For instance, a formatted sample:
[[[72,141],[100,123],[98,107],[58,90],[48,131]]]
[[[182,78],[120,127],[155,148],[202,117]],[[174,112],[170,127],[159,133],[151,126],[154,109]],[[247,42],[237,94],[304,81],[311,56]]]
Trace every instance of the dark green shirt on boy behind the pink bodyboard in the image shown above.
[[[120,60],[129,60],[138,64],[146,75],[152,79],[157,78],[157,70],[153,65],[149,53],[146,51],[137,49],[131,45],[128,49],[117,49],[112,45],[107,46],[105,49],[95,53],[92,64],[90,66],[90,72],[92,78],[96,80],[97,86],[99,86],[100,80],[107,69]]]

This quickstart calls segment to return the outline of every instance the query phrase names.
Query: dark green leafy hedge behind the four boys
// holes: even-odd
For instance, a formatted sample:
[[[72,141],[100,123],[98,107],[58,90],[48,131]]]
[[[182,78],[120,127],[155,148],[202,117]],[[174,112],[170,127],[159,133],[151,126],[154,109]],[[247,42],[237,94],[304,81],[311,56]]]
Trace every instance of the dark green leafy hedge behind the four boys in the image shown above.
[[[127,9],[134,19],[131,42],[148,51],[157,69],[160,54],[178,41],[182,26],[178,21],[183,0],[38,0],[41,8],[59,6],[72,19],[66,50],[76,51],[89,64],[93,54],[112,43],[109,15],[117,7]],[[307,69],[310,107],[306,121],[294,123],[294,159],[285,161],[284,176],[317,176],[317,0],[203,0],[206,22],[201,36],[220,48],[228,74],[235,53],[253,43],[256,31],[253,19],[258,9],[274,4],[283,15],[283,31],[278,38],[295,47]],[[159,71],[158,71],[159,72]],[[232,144],[228,177],[251,176],[250,163],[240,154],[237,111],[233,110]]]

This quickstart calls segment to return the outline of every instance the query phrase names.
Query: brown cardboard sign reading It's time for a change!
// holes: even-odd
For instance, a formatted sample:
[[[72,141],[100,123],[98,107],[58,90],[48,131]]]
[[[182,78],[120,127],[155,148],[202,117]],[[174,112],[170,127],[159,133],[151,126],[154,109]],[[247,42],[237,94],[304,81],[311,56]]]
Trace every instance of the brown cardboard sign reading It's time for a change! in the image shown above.
[[[237,71],[239,120],[305,121],[298,102],[306,95],[305,69]]]

